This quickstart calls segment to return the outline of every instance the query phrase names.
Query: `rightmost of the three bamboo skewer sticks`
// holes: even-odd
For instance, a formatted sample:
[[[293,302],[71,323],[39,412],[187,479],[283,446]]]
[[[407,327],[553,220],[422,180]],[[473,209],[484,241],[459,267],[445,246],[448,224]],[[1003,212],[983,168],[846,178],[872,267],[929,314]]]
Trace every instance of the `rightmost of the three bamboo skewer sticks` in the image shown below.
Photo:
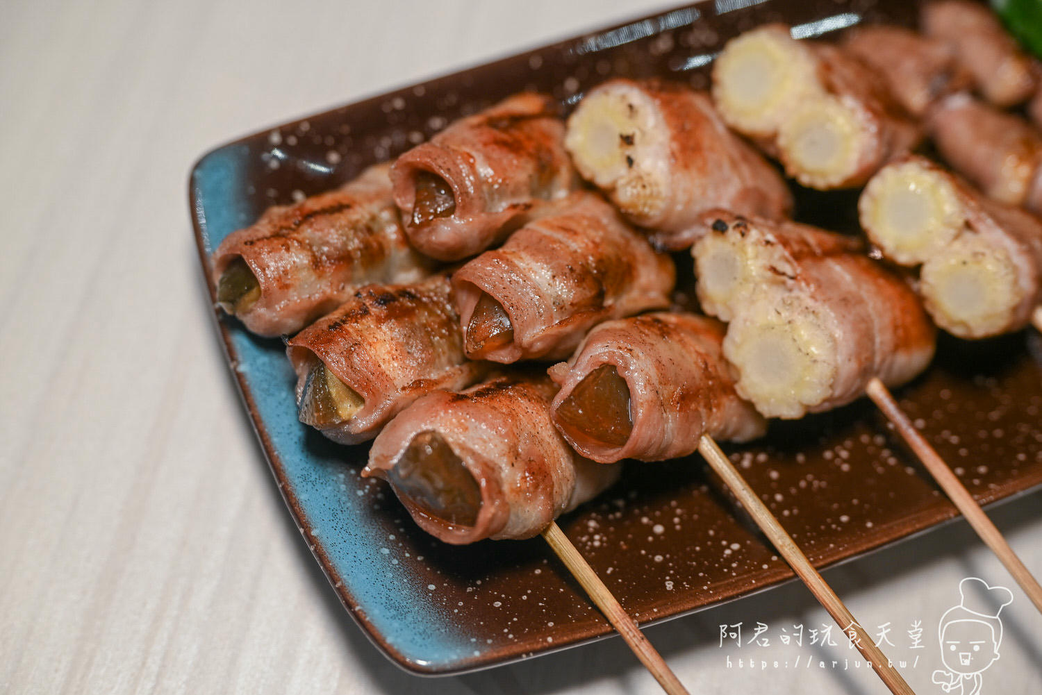
[[[1035,318],[1042,318],[1040,314],[1042,312],[1036,312]],[[1024,567],[1024,564],[1020,562],[1020,557],[1017,556],[1017,553],[1013,551],[1010,544],[1002,538],[1002,533],[995,527],[991,519],[988,518],[988,515],[981,508],[981,505],[976,503],[976,500],[973,499],[973,496],[966,487],[959,480],[959,477],[948,468],[948,465],[934,450],[929,442],[915,428],[909,417],[897,404],[897,401],[894,400],[890,390],[878,379],[872,379],[868,382],[866,391],[868,392],[868,397],[875,401],[875,404],[879,406],[884,415],[894,423],[897,431],[908,442],[908,445],[912,447],[919,461],[926,467],[926,470],[934,476],[934,479],[941,486],[941,489],[952,503],[954,503],[960,513],[966,517],[966,521],[969,522],[973,530],[981,537],[981,540],[1001,561],[1006,569],[1013,575],[1013,578],[1020,585],[1020,588],[1027,594],[1027,597],[1032,599],[1035,607],[1042,612],[1042,587],[1039,586],[1038,580]]]

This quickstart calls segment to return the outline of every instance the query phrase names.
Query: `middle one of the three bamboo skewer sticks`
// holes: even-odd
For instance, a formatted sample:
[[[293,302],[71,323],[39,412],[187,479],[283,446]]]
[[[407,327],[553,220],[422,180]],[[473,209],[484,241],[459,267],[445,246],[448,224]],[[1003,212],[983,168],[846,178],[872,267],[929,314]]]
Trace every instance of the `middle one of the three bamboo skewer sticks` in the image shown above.
[[[887,659],[883,650],[875,646],[872,638],[865,631],[865,628],[854,620],[849,609],[843,603],[833,588],[822,578],[811,561],[807,559],[803,551],[792,540],[792,537],[782,527],[778,520],[771,514],[767,505],[761,501],[756,493],[738,472],[738,469],[730,463],[717,443],[712,438],[703,436],[698,444],[698,451],[702,454],[709,465],[716,471],[717,475],[730,488],[731,492],[742,502],[742,506],[752,517],[760,529],[764,531],[770,542],[777,548],[786,562],[792,567],[807,588],[811,590],[814,597],[818,599],[828,615],[833,617],[840,628],[846,634],[858,651],[872,665],[879,679],[886,684],[887,688],[894,695],[915,695],[912,688],[904,681],[901,674],[897,672]],[[854,637],[851,638],[850,634]]]

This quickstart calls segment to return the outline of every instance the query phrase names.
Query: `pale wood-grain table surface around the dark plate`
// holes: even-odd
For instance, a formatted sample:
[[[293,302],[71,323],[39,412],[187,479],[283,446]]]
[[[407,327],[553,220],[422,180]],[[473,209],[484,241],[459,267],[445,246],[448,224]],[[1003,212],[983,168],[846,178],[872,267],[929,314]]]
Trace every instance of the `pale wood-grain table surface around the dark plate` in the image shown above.
[[[369,644],[241,407],[185,188],[199,154],[241,133],[661,6],[0,4],[0,692],[656,692],[618,639],[439,679]],[[1040,503],[994,513],[1036,572]],[[869,631],[891,623],[893,651],[922,655],[905,673],[925,693],[940,692],[937,621],[970,575],[1012,586],[959,522],[826,578]],[[1042,690],[1042,619],[1014,594],[986,692]],[[910,652],[905,623],[919,618],[924,648]],[[721,646],[719,625],[738,622],[775,639]],[[780,644],[799,623],[827,617],[789,585],[647,635],[692,693],[883,692],[867,669],[844,669],[857,652],[841,638]],[[796,654],[804,668],[780,663]]]

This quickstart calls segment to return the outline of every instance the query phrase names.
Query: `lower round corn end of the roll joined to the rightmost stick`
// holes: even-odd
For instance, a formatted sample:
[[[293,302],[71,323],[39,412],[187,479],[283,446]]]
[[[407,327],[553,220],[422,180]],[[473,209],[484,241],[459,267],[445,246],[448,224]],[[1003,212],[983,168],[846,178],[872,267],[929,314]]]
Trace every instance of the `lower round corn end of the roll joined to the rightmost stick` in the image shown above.
[[[800,418],[832,394],[836,338],[798,294],[771,294],[730,323],[723,352],[738,393],[762,415]]]

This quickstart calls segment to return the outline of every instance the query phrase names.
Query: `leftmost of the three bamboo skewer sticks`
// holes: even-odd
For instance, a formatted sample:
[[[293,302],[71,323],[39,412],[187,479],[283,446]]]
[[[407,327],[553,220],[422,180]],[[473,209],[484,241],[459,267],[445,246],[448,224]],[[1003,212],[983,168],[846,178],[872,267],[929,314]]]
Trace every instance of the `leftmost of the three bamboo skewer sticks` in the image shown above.
[[[543,530],[543,538],[550,544],[550,548],[582,586],[582,589],[597,604],[612,626],[618,630],[629,648],[634,650],[641,664],[644,664],[645,668],[651,672],[662,689],[669,695],[689,695],[679,678],[666,664],[666,660],[651,646],[648,639],[638,628],[637,622],[623,610],[618,599],[612,595],[612,592],[600,580],[590,564],[575,549],[572,542],[565,536],[565,531],[561,530],[557,522],[550,522],[550,525]]]

